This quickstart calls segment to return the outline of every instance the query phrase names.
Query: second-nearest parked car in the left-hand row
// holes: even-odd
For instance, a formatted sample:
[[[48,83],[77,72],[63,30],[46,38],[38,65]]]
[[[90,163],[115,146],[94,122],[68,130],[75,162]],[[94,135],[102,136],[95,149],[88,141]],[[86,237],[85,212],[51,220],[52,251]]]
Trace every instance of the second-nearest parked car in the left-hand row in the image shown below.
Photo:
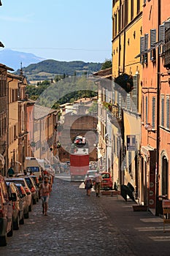
[[[15,186],[15,184],[10,181],[6,181],[6,184],[7,184],[9,197],[12,197],[12,195],[15,195],[15,200],[12,200],[13,229],[19,230],[20,224],[24,224],[23,201],[20,199],[18,188]]]

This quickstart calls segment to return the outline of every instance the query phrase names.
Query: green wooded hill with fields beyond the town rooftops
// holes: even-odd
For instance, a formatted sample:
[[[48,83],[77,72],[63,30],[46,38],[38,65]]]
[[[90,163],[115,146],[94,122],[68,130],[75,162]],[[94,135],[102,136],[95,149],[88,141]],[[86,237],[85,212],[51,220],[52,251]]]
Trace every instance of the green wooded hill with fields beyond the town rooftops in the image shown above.
[[[101,63],[84,62],[84,61],[55,61],[53,59],[40,61],[37,64],[30,64],[23,68],[23,75],[31,80],[50,80],[55,78],[55,75],[82,75],[92,74],[101,69]],[[19,70],[17,71],[19,74]]]

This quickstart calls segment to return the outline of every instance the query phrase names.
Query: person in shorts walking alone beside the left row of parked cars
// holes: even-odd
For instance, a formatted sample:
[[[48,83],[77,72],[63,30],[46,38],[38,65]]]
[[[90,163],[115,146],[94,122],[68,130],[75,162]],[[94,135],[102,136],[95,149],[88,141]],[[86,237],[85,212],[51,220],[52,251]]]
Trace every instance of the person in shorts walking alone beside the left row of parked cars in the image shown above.
[[[39,187],[40,196],[42,197],[42,214],[47,215],[48,200],[51,192],[49,177],[45,176],[44,181]]]

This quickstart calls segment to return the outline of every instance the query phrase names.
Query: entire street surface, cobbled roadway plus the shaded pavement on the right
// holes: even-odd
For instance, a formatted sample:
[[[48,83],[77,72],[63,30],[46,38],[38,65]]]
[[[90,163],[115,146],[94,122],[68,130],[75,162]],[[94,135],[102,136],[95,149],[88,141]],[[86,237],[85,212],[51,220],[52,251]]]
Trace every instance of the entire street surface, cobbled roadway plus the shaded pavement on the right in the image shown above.
[[[80,183],[55,178],[48,216],[41,201],[14,231],[1,256],[169,255],[170,234],[150,212],[134,212],[122,197],[87,197]]]

